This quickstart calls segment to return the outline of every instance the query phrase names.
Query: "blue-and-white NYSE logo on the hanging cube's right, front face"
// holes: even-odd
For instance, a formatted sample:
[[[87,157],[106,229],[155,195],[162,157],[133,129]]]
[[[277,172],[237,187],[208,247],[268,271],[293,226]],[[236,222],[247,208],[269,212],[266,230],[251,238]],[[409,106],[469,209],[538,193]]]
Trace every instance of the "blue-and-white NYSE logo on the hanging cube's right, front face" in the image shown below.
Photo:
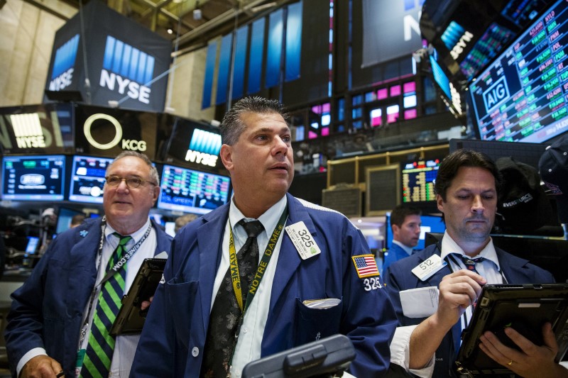
[[[149,104],[154,62],[146,52],[108,35],[99,85]]]

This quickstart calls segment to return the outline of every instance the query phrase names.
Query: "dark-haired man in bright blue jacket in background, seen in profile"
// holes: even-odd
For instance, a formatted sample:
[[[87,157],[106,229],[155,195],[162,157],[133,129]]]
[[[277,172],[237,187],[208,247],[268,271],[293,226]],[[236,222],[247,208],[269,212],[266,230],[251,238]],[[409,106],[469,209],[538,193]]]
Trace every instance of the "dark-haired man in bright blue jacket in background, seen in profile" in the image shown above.
[[[413,248],[420,241],[420,216],[422,211],[413,206],[398,205],[391,211],[393,244],[385,253],[383,272],[393,262],[413,254]]]

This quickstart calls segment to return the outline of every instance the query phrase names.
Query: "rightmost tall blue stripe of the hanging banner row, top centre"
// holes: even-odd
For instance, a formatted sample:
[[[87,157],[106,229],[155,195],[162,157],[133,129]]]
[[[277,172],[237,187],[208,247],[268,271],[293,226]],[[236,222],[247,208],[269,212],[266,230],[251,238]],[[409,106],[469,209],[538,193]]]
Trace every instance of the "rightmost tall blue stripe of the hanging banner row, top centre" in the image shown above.
[[[300,78],[302,56],[302,1],[288,6],[286,21],[286,69],[285,81]]]

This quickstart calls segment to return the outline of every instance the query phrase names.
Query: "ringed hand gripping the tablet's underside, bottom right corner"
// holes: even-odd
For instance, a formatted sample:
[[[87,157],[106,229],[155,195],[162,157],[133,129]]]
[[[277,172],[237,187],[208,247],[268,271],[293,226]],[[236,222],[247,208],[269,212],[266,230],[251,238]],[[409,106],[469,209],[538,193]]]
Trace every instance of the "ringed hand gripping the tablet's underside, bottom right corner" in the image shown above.
[[[508,367],[521,377],[568,377],[568,369],[555,363],[558,352],[555,334],[550,323],[542,326],[545,345],[538,346],[518,333],[513,328],[506,328],[505,334],[518,345],[520,350],[508,348],[490,331],[486,331],[479,340],[479,348],[498,364]]]

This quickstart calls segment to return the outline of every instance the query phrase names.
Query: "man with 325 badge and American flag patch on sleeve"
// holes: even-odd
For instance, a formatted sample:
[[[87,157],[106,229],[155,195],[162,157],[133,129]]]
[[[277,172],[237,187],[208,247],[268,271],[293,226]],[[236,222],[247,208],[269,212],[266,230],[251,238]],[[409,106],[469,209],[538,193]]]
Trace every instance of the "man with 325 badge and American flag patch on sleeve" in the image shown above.
[[[234,196],[175,236],[131,377],[240,377],[252,360],[337,333],[354,345],[352,374],[386,372],[397,321],[375,257],[345,216],[287,194],[291,139],[278,101],[249,97],[226,113],[221,158]],[[243,220],[261,223],[249,290],[231,284],[246,278]],[[238,312],[219,320],[226,307]]]

